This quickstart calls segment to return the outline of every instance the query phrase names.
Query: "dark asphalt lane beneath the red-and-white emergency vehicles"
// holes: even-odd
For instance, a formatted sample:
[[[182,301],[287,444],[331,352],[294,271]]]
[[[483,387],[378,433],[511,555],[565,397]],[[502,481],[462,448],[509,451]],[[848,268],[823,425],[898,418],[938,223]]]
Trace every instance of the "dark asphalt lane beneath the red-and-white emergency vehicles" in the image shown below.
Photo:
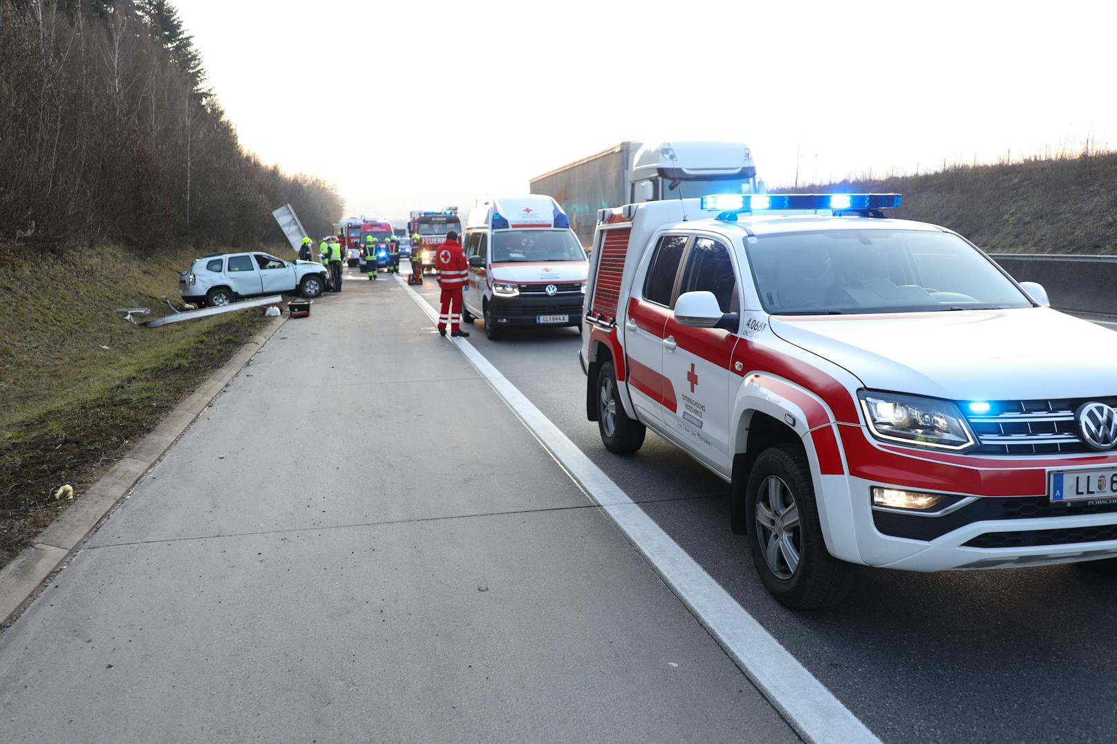
[[[437,302],[435,282],[420,288]],[[1114,741],[1108,627],[1117,580],[1072,565],[915,574],[860,572],[850,599],[795,613],[756,578],[729,532],[728,486],[652,432],[633,456],[585,420],[572,328],[506,331],[470,343],[787,650],[888,742]]]

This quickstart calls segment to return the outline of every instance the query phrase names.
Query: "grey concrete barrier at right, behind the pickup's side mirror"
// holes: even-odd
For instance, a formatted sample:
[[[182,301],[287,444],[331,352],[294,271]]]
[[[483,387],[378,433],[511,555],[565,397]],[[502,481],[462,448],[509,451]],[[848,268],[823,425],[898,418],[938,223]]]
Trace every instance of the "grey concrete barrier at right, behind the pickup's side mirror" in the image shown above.
[[[1117,256],[990,254],[1016,282],[1039,282],[1051,306],[1117,315]]]

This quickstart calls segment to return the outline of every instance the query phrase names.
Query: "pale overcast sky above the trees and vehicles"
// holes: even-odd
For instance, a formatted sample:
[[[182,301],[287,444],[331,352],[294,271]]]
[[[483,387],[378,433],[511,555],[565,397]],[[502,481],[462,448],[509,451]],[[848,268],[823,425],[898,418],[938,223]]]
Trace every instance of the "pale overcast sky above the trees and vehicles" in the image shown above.
[[[346,216],[524,193],[623,140],[741,140],[770,185],[1117,145],[1117,3],[176,4],[241,143]]]

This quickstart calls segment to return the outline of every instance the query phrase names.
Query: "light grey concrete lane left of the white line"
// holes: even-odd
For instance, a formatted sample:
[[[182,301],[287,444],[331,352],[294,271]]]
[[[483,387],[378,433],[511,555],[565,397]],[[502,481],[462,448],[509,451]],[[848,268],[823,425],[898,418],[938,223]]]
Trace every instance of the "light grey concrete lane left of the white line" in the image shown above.
[[[402,287],[347,274],[0,636],[0,741],[794,741]]]

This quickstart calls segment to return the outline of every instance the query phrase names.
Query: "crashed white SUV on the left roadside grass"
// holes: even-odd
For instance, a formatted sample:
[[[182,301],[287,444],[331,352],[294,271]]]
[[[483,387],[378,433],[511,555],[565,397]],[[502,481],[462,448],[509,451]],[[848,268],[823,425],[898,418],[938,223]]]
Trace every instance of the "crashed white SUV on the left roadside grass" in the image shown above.
[[[299,294],[314,298],[326,287],[326,269],[314,261],[285,261],[258,251],[210,254],[179,274],[182,299],[222,307],[244,297]]]

